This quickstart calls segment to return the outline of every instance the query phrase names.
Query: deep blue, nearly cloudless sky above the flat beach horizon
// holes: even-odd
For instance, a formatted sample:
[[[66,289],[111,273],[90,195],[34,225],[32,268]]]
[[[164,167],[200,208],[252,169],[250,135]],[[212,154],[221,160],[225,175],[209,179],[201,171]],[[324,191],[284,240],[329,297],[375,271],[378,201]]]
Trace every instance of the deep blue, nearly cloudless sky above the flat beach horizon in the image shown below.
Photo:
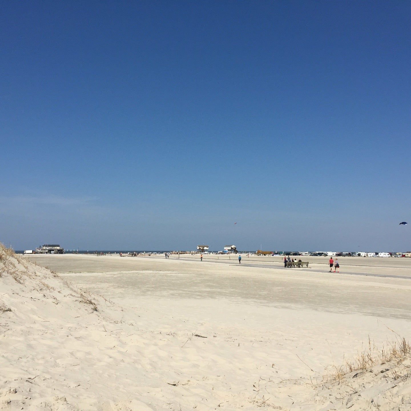
[[[0,240],[411,249],[410,16],[392,1],[3,3]]]

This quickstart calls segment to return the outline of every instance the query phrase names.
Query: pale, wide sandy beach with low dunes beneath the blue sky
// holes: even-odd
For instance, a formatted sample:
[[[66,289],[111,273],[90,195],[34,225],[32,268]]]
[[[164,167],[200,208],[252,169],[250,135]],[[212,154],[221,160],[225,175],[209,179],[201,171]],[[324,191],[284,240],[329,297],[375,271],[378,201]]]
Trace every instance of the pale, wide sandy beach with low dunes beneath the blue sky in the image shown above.
[[[28,259],[107,301],[92,297],[94,311],[60,277],[25,268],[25,259],[14,262],[18,281],[3,273],[0,305],[12,311],[0,311],[0,409],[411,409],[411,379],[396,378],[410,360],[339,384],[322,379],[369,339],[382,347],[397,338],[391,330],[411,339],[409,278],[330,274],[321,261],[284,270],[269,257],[241,267],[164,257]],[[409,277],[404,260],[352,260],[350,270]]]

